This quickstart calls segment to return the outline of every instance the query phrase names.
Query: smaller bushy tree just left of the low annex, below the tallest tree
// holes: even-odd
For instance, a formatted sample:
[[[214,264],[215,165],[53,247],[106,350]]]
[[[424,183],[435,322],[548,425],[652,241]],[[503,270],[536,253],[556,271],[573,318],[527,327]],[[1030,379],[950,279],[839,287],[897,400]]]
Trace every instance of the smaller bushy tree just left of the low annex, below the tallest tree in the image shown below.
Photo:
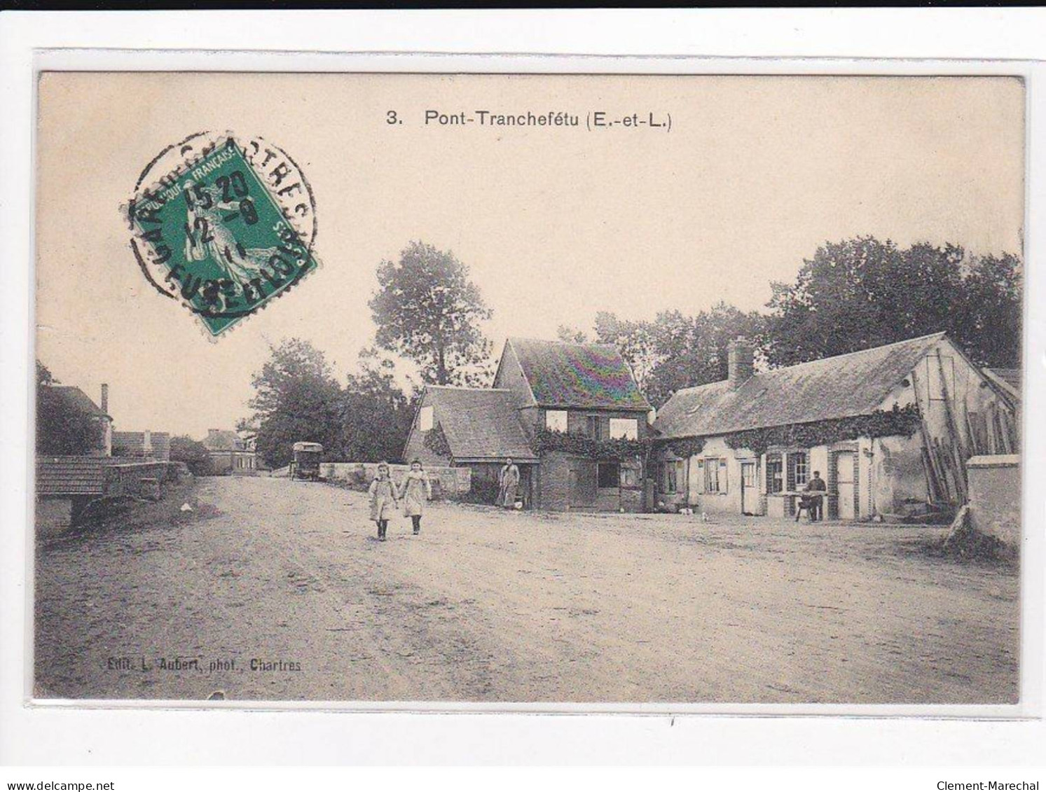
[[[360,353],[359,369],[342,392],[342,449],[356,462],[396,461],[414,418],[413,399],[393,376],[394,365],[374,348]]]

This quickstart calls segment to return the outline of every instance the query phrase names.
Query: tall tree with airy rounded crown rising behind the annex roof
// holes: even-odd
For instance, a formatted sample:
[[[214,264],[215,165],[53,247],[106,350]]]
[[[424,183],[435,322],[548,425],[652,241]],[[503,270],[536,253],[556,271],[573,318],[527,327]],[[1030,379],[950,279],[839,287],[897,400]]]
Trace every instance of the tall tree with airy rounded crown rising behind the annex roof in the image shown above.
[[[378,265],[378,284],[369,303],[378,346],[416,362],[426,382],[488,382],[491,343],[480,323],[492,311],[453,253],[411,242],[399,261]]]

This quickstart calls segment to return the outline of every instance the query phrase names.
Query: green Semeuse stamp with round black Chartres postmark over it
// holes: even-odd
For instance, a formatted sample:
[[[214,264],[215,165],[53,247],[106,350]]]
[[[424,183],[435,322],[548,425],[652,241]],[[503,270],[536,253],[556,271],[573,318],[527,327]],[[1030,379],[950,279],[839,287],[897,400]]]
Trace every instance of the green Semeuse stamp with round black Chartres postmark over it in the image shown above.
[[[260,137],[199,132],[172,143],[142,170],[126,215],[142,274],[211,335],[319,266],[312,187]]]

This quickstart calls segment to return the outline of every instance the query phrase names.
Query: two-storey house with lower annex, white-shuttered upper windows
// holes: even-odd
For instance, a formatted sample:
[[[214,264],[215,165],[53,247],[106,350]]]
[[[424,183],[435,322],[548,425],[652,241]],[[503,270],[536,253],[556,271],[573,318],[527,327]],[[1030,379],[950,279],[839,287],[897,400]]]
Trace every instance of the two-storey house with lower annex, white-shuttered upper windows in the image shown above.
[[[509,339],[493,388],[425,389],[405,457],[468,466],[474,487],[511,458],[527,507],[642,511],[642,457],[608,441],[645,440],[650,412],[616,348]]]

